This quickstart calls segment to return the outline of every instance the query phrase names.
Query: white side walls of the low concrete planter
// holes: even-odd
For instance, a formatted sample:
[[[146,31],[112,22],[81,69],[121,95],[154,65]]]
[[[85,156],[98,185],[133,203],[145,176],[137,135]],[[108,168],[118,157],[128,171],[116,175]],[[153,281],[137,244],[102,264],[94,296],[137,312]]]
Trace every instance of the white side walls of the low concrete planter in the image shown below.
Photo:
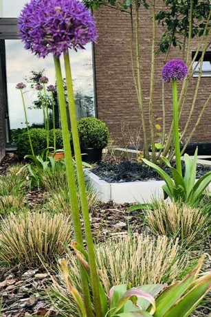
[[[107,183],[97,175],[85,170],[85,175],[100,201],[113,200],[117,204],[149,203],[153,198],[164,197],[162,186],[164,181],[148,180],[146,182]]]

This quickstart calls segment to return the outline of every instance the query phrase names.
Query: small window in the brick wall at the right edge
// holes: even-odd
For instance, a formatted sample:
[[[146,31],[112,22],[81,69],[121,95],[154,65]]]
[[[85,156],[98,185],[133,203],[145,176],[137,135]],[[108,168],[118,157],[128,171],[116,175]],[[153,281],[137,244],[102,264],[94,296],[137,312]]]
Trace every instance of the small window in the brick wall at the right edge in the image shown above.
[[[196,52],[192,52],[192,58],[194,58]],[[193,77],[199,76],[201,52],[197,55],[196,61],[192,65],[192,69],[195,69]],[[198,63],[199,62],[199,63]],[[203,58],[201,77],[211,77],[211,52],[206,52]]]

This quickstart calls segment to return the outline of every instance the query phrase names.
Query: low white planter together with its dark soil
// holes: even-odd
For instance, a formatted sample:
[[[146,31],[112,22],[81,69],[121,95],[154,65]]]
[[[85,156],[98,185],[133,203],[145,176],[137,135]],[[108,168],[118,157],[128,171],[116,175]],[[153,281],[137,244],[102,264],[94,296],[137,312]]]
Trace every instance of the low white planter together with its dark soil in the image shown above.
[[[164,167],[164,171],[170,175],[168,167]],[[208,171],[211,171],[211,166],[198,165],[197,178]],[[164,197],[162,186],[165,182],[162,178],[152,168],[137,162],[101,162],[91,171],[85,171],[85,174],[100,201],[113,200],[117,204],[138,201],[143,204],[151,202],[153,198]]]

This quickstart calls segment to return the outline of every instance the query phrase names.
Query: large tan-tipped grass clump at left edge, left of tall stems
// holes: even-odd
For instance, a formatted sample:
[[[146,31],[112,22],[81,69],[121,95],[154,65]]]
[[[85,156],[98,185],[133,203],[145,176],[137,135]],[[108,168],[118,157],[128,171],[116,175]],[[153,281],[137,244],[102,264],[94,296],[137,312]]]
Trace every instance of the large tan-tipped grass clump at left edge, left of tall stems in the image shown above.
[[[69,217],[47,212],[10,213],[1,220],[0,261],[30,267],[42,261],[52,263],[65,253],[71,238]]]

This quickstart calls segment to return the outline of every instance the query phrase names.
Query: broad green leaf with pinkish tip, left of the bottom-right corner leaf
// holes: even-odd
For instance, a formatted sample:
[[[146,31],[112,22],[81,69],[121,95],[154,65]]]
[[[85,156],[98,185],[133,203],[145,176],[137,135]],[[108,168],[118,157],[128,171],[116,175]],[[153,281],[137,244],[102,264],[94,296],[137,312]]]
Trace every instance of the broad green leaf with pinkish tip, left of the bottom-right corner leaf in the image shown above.
[[[190,285],[195,282],[197,275],[199,274],[199,270],[201,269],[203,259],[204,256],[201,257],[199,265],[197,265],[195,270],[192,270],[192,272],[190,272],[190,274],[188,274],[184,280],[180,282],[177,281],[175,284],[166,287],[164,292],[162,292],[162,294],[157,297],[155,300],[156,311],[153,315],[154,317],[163,317],[168,309],[175,305],[177,300],[183,296],[184,292],[186,292]]]

